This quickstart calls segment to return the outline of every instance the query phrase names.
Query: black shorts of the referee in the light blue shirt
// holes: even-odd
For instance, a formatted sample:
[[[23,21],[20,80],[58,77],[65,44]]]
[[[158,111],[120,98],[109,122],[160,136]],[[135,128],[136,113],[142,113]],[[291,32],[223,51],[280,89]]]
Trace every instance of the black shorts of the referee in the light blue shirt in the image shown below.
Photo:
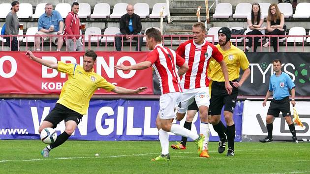
[[[280,112],[282,116],[291,116],[288,96],[281,100],[271,100],[267,115],[279,117]]]

